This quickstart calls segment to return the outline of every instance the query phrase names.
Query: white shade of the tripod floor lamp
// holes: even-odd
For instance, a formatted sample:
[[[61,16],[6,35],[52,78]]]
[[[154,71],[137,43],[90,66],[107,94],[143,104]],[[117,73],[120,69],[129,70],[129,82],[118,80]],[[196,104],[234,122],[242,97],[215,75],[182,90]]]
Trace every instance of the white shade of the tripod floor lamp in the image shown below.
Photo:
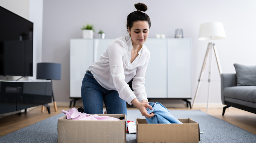
[[[204,23],[200,25],[198,40],[224,39],[226,34],[221,22]]]

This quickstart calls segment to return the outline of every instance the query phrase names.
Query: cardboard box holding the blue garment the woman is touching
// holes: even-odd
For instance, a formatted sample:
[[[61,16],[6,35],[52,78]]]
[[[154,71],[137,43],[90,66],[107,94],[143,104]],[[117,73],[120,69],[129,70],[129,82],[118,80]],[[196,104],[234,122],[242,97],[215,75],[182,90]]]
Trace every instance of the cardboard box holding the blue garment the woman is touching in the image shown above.
[[[137,143],[198,143],[199,124],[192,119],[178,119],[183,124],[148,124],[136,119]]]

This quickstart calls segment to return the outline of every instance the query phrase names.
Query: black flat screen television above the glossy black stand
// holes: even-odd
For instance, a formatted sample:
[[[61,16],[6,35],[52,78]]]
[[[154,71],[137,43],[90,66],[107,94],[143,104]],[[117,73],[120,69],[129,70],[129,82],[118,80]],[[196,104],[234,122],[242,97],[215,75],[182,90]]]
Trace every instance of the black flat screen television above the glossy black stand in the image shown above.
[[[33,23],[1,6],[0,75],[33,76]]]

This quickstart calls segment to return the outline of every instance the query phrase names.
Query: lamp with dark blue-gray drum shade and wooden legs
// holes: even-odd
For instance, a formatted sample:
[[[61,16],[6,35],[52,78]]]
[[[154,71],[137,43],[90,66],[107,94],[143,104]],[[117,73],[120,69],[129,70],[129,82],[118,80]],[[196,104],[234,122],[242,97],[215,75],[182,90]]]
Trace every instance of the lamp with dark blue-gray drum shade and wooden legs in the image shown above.
[[[59,63],[37,63],[36,64],[36,79],[60,79],[61,78],[61,64]],[[53,105],[55,112],[57,112],[57,105],[53,95]],[[44,105],[46,106],[46,105]],[[42,106],[42,112],[44,111],[44,106]],[[49,108],[47,108],[49,110]]]

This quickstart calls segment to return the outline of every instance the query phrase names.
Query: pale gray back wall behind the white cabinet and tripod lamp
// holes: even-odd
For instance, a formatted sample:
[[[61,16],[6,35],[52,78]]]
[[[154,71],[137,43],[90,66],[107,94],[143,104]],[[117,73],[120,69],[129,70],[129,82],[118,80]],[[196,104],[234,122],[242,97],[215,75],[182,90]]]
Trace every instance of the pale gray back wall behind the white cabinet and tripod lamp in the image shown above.
[[[141,0],[148,6],[151,18],[149,38],[165,34],[174,38],[174,30],[182,28],[184,38],[192,39],[192,96],[198,84],[203,58],[209,41],[197,40],[200,24],[222,22],[226,39],[215,40],[224,73],[235,72],[234,63],[256,65],[256,1],[255,0]],[[117,38],[126,33],[127,15],[134,11],[138,1],[120,0],[44,0],[42,61],[61,63],[61,80],[53,81],[57,102],[69,102],[69,48],[70,39],[82,38],[80,28],[94,24],[96,32],[102,29],[105,38]],[[97,35],[94,37],[97,38]],[[157,47],[156,47],[157,48]],[[207,101],[207,71],[196,103]],[[82,79],[81,79],[82,80]],[[221,103],[220,76],[213,60],[210,103]]]

